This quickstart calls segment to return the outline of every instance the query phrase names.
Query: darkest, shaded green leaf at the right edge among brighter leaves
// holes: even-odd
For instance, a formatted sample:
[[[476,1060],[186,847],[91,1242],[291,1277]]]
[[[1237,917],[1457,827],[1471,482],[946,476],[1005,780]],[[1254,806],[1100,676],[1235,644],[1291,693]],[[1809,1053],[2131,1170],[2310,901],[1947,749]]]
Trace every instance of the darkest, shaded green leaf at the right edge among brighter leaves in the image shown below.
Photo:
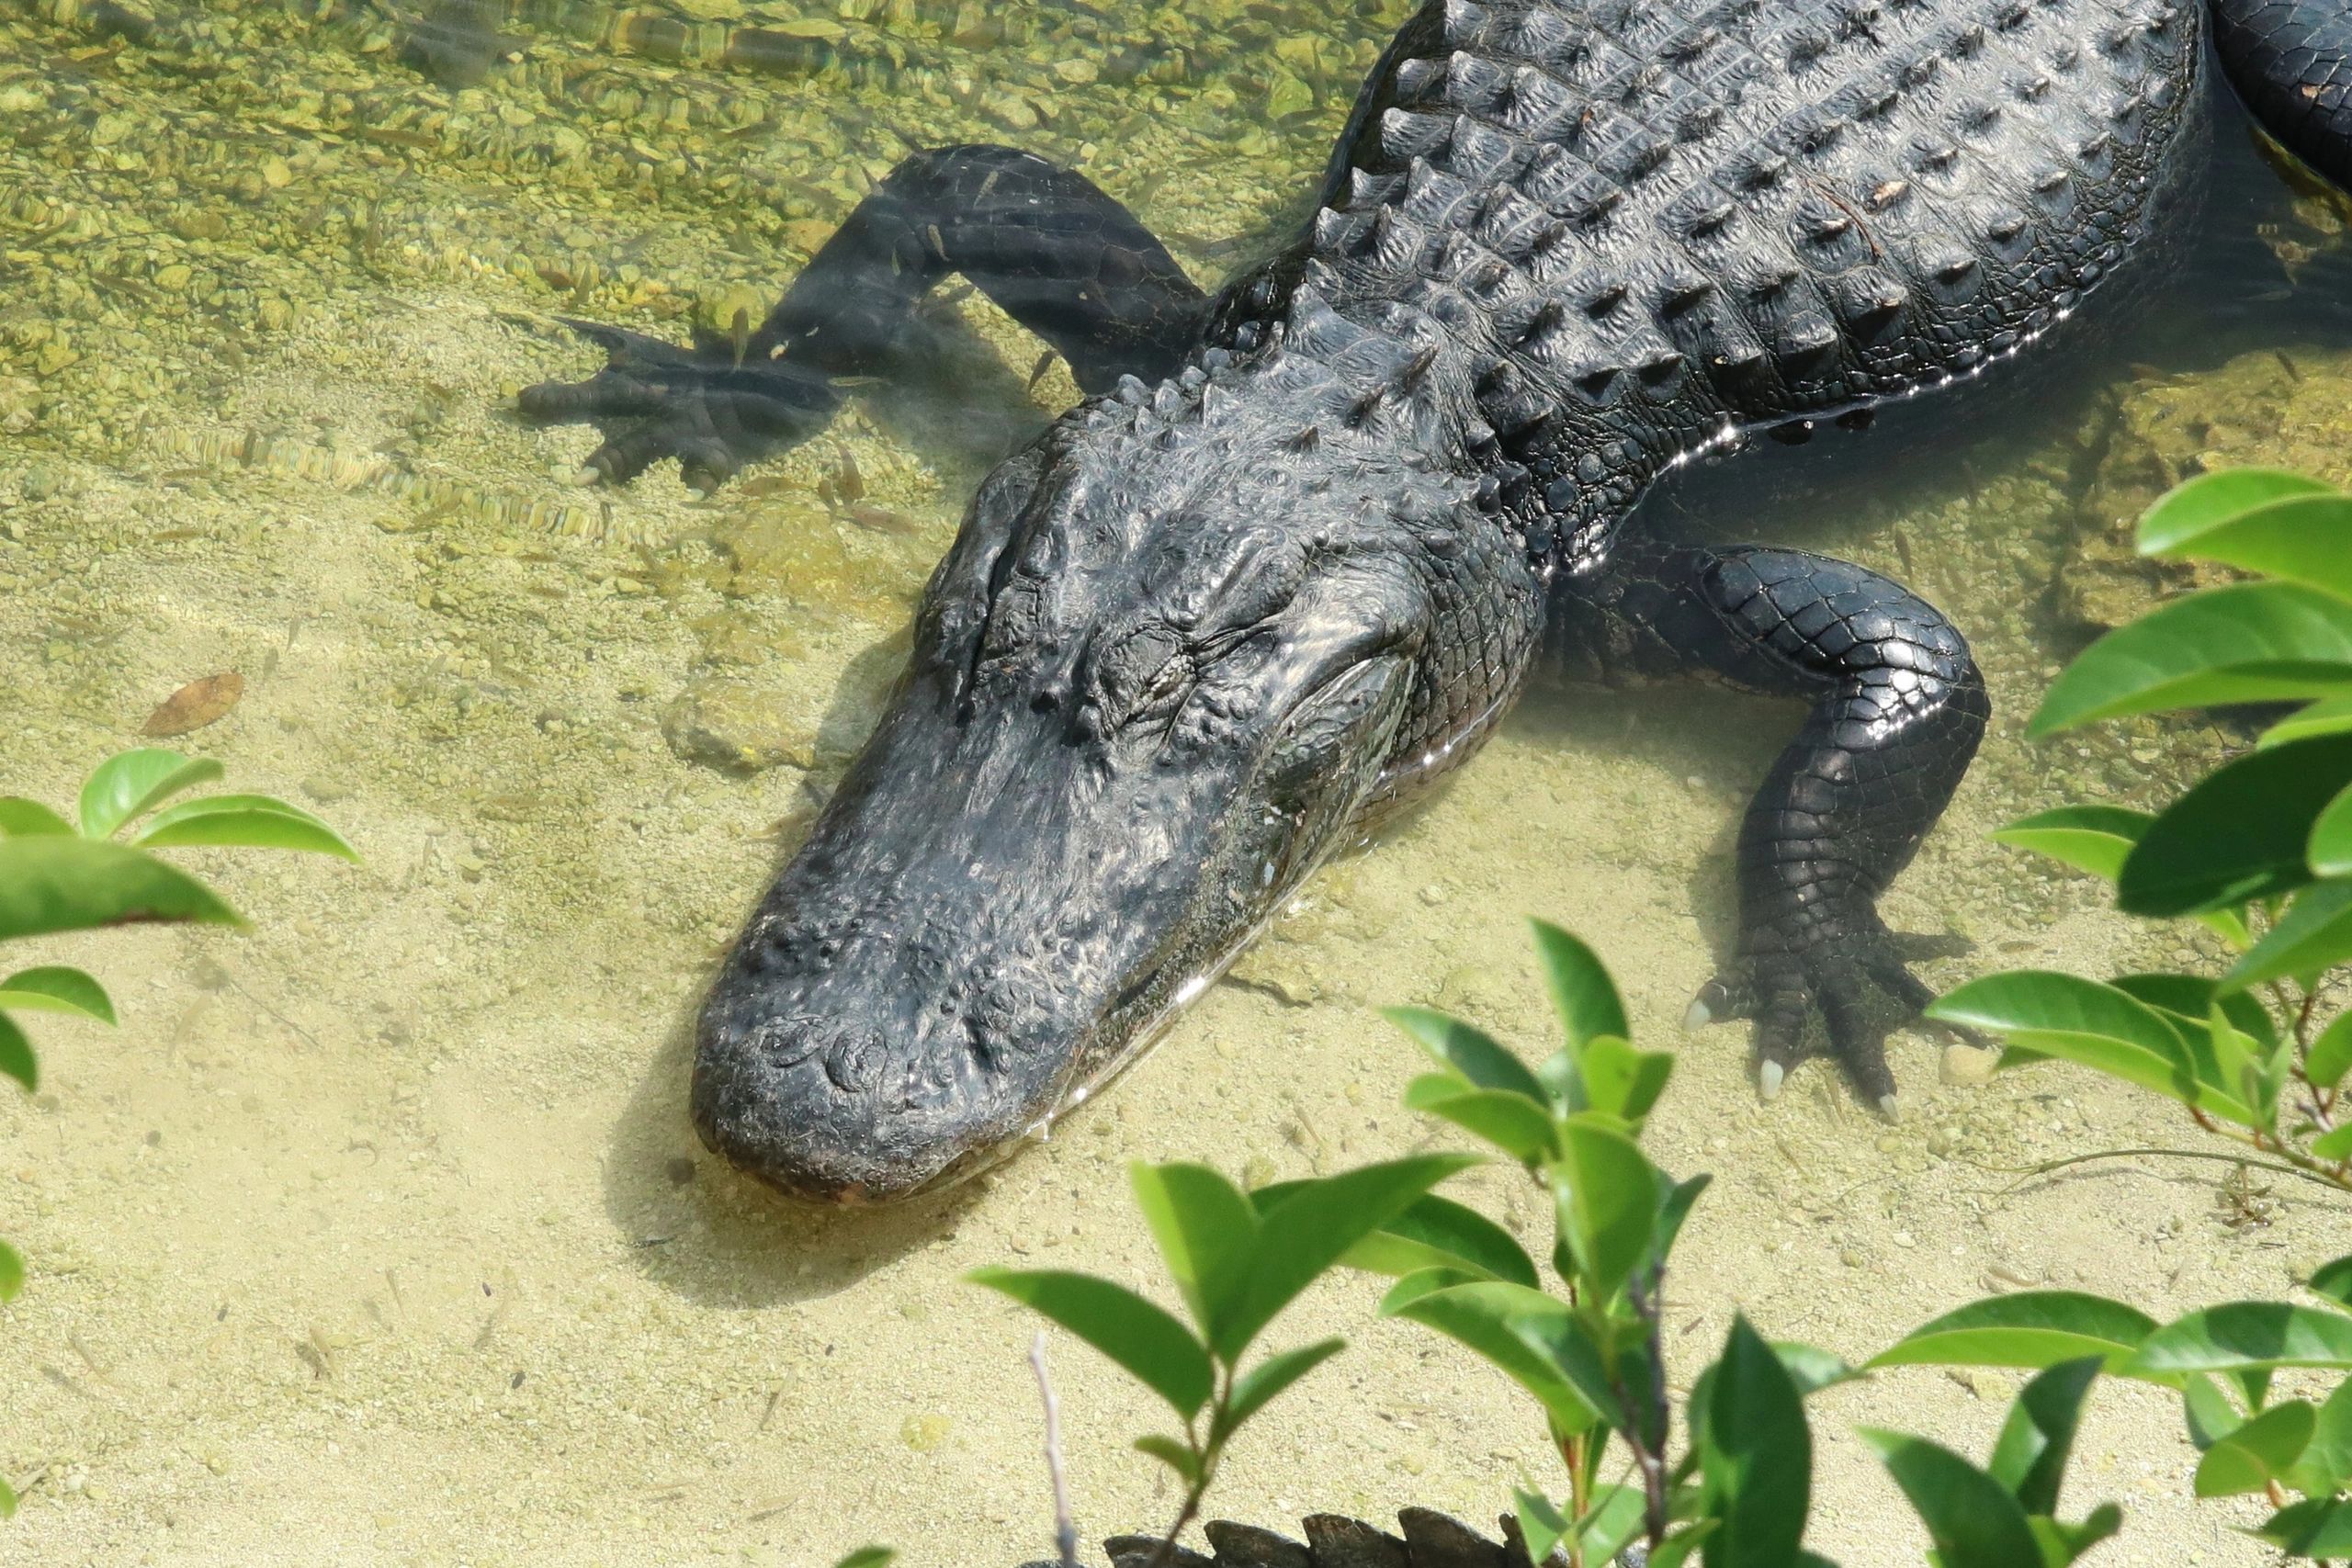
[[[2197,914],[2291,893],[2312,879],[2312,818],[2345,783],[2352,733],[2288,741],[2213,769],[2124,856],[2114,905],[2124,914]]]

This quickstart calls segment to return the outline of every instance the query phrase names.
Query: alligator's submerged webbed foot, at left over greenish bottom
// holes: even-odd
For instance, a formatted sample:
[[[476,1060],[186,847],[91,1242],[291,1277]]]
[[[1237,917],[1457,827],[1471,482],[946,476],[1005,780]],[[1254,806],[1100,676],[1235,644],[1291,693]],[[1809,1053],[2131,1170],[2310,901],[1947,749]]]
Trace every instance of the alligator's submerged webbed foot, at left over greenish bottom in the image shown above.
[[[757,343],[699,334],[691,348],[595,322],[564,324],[604,350],[588,381],[541,381],[517,397],[539,425],[590,423],[604,444],[588,468],[626,484],[661,458],[713,491],[739,468],[818,430],[840,393],[816,371],[771,360]]]

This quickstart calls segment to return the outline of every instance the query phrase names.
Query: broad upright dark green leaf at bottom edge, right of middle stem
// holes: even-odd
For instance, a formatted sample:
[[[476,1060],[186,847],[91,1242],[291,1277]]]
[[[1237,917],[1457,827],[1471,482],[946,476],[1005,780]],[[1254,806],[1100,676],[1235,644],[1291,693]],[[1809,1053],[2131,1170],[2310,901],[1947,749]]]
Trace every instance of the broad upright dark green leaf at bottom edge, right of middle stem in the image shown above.
[[[1708,1514],[1722,1521],[1700,1547],[1708,1568],[1788,1568],[1813,1507],[1813,1429],[1745,1314],[1710,1368],[1703,1450]]]

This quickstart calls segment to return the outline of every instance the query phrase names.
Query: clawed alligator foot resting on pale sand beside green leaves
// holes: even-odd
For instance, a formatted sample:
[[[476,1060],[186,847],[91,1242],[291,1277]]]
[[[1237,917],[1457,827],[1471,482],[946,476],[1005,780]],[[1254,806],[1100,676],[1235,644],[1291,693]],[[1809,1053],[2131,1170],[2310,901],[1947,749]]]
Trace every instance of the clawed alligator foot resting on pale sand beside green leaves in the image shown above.
[[[1910,964],[1947,957],[1952,938],[1896,936],[1870,914],[1835,933],[1809,933],[1802,945],[1780,943],[1778,933],[1766,933],[1764,943],[1698,987],[1684,1027],[1752,1018],[1762,1098],[1780,1093],[1797,1063],[1828,1056],[1853,1093],[1893,1121],[1900,1100],[1886,1067],[1886,1034],[1936,999]],[[1811,1027],[1816,1016],[1818,1032]],[[1950,1032],[1985,1044],[1971,1030]]]

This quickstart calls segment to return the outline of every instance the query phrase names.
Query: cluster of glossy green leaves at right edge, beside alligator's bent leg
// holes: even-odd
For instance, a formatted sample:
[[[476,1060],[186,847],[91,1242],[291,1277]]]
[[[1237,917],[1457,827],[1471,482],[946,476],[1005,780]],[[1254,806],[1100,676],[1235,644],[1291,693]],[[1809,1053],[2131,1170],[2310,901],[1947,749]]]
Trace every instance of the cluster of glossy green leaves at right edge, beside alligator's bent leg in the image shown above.
[[[2263,581],[2117,628],[2051,686],[2032,731],[2239,701],[2300,703],[2164,811],[2039,811],[1997,839],[2114,886],[2126,914],[2192,917],[2237,957],[2218,976],[1971,980],[1929,1009],[2002,1034],[2004,1067],[2063,1058],[2166,1095],[2260,1164],[2352,1192],[2352,1023],[2317,1006],[2352,961],[2352,496],[2277,470],[2178,487],[2140,550]]]

